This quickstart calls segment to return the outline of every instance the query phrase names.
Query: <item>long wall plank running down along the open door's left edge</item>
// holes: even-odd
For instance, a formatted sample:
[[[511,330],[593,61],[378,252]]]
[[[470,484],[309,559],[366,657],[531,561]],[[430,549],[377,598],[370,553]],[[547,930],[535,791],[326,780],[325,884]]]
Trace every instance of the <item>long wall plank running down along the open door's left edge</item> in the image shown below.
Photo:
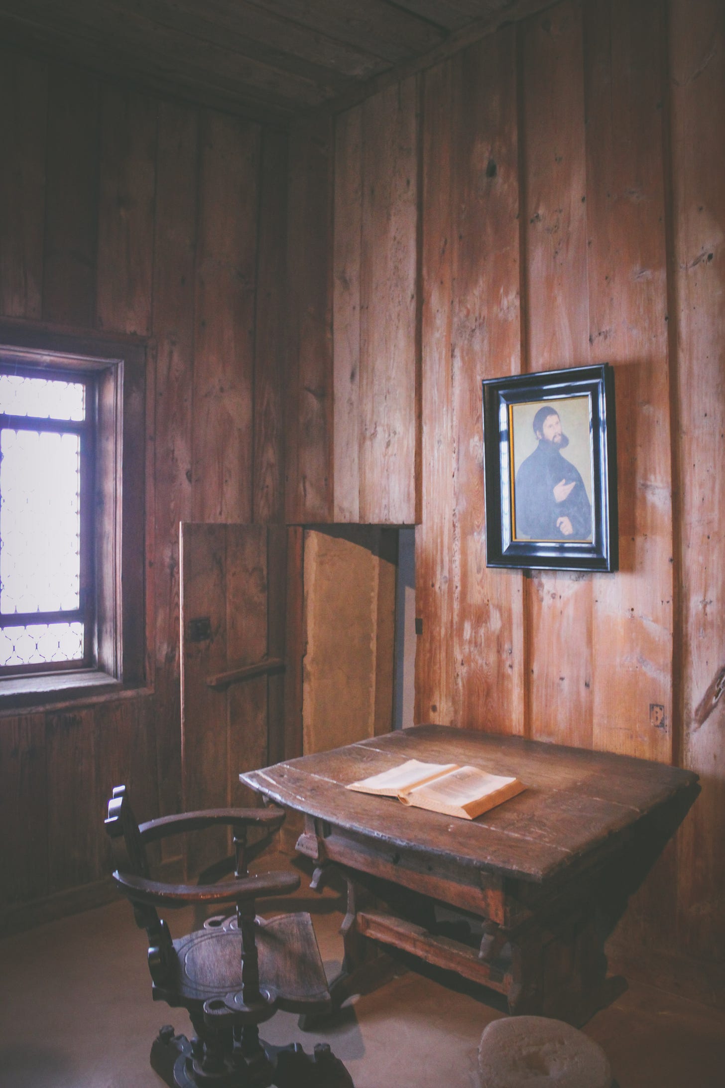
[[[179,523],[191,517],[198,113],[159,108],[153,273],[157,753],[161,809],[180,809]]]

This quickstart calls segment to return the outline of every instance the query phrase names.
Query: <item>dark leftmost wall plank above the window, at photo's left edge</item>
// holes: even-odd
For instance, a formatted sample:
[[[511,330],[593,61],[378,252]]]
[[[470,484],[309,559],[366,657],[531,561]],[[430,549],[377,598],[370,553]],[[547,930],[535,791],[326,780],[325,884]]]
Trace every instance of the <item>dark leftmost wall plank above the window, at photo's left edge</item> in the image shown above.
[[[39,319],[46,210],[47,64],[0,50],[0,313]]]

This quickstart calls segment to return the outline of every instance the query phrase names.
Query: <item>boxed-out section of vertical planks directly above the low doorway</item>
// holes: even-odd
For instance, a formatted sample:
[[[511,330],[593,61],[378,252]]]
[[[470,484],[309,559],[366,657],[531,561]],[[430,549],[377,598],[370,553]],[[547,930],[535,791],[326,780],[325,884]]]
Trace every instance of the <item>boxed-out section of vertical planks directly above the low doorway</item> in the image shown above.
[[[291,136],[290,522],[420,512],[420,88],[411,76]]]

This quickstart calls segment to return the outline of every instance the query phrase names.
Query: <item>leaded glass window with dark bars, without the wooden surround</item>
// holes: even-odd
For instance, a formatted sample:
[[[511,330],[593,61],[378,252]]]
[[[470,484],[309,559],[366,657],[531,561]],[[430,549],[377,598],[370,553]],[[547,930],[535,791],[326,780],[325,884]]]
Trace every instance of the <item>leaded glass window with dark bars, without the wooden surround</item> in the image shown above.
[[[96,383],[0,367],[0,676],[93,664]]]

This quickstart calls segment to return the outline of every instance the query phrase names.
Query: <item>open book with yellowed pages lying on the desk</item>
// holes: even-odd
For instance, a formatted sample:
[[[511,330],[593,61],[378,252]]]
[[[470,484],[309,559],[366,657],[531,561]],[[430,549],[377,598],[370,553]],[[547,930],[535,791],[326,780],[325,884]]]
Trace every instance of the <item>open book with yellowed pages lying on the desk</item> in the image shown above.
[[[459,767],[455,763],[421,763],[418,759],[409,759],[400,767],[351,782],[347,788],[359,793],[398,798],[404,805],[463,819],[475,819],[526,789],[517,778],[488,775],[476,767]]]

